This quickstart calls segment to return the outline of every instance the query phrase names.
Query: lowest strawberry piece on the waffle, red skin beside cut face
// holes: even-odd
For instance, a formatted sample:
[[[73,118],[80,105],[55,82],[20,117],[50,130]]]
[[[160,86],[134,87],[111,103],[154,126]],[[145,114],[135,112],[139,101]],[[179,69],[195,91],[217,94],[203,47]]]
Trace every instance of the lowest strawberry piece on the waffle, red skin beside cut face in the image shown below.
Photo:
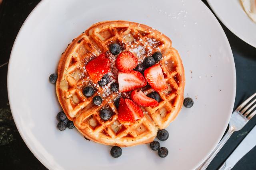
[[[132,100],[120,98],[117,116],[120,123],[131,125],[143,118],[143,111]]]

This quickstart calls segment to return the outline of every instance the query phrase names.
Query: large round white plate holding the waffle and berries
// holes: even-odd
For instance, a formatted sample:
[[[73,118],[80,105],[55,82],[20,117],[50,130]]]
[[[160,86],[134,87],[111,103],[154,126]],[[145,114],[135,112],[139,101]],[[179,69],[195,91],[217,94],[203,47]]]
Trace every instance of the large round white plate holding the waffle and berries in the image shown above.
[[[183,108],[167,128],[170,137],[160,143],[169,149],[166,158],[140,145],[123,148],[122,156],[114,159],[111,147],[85,140],[76,129],[56,129],[61,108],[48,77],[56,72],[68,43],[104,20],[152,26],[170,37],[180,52],[185,97],[192,97],[194,106]],[[29,149],[49,169],[196,168],[224,134],[235,92],[230,45],[200,0],[43,0],[20,29],[8,68],[8,95],[16,126]]]

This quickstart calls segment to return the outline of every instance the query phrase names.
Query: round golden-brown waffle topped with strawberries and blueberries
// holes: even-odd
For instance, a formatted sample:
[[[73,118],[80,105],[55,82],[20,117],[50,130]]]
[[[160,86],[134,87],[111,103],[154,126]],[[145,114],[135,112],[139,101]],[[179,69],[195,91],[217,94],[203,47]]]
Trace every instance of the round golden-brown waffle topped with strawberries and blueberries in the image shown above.
[[[118,43],[122,50],[132,52],[138,63],[142,63],[145,57],[156,51],[160,51],[163,56],[160,65],[168,89],[159,92],[159,106],[141,107],[144,117],[132,125],[123,125],[118,121],[118,109],[114,105],[114,101],[120,96],[129,98],[129,92],[112,92],[110,83],[104,87],[98,86],[85,69],[88,61],[106,53],[111,63],[111,72],[108,73],[110,81],[117,81],[116,56],[109,52],[112,43]],[[82,90],[89,85],[94,86],[96,92],[85,97]],[[158,129],[166,128],[176,118],[183,104],[184,85],[182,61],[168,37],[139,23],[103,21],[92,25],[73,39],[62,53],[58,64],[56,93],[68,119],[74,122],[84,137],[104,145],[129,147],[152,142]],[[145,94],[154,91],[149,85],[141,90]],[[92,102],[96,95],[103,99],[100,106],[95,106]],[[112,112],[112,117],[107,121],[102,120],[99,115],[104,108],[109,108]]]

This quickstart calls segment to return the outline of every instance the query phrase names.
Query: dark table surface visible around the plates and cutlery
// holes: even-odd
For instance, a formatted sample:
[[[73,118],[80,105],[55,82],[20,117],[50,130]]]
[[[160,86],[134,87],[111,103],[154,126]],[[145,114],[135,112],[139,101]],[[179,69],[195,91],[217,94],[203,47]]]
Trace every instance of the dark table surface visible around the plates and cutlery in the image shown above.
[[[1,1],[1,0],[0,0]],[[206,0],[202,0],[207,6]],[[7,95],[7,69],[12,45],[22,23],[40,0],[3,0],[0,5],[0,169],[47,169],[30,152],[15,127]],[[210,8],[208,6],[208,8]],[[221,23],[221,22],[220,22]],[[256,48],[248,45],[222,23],[228,37],[236,64],[236,108],[244,99],[256,92]],[[18,86],[18,84],[17,84]],[[256,125],[256,116],[241,130],[232,135],[208,166],[215,170],[220,166],[246,134]],[[196,154],[196,153],[195,153]],[[233,170],[256,170],[256,147],[246,154]]]

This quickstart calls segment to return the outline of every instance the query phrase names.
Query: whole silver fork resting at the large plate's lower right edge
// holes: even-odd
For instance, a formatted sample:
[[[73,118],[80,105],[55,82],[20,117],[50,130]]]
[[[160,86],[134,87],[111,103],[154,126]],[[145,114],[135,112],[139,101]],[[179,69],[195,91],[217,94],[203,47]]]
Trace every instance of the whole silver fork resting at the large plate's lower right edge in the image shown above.
[[[229,122],[229,128],[226,133],[226,135],[221,139],[220,143],[217,145],[217,147],[212,151],[212,153],[204,160],[204,162],[196,168],[196,170],[205,170],[207,166],[210,164],[212,159],[216,156],[216,154],[220,151],[220,149],[223,147],[223,145],[228,141],[230,136],[235,132],[241,130],[246,123],[252,119],[252,117],[256,114],[256,110],[252,112],[252,110],[256,107],[256,99],[252,100],[256,96],[256,93],[254,93],[250,98],[248,98],[246,101],[244,101],[240,106],[236,108],[236,110],[232,113],[230,122]],[[246,106],[246,107],[245,107]],[[251,107],[250,109],[248,109]],[[244,108],[244,109],[243,109]],[[251,113],[252,112],[252,113]]]

